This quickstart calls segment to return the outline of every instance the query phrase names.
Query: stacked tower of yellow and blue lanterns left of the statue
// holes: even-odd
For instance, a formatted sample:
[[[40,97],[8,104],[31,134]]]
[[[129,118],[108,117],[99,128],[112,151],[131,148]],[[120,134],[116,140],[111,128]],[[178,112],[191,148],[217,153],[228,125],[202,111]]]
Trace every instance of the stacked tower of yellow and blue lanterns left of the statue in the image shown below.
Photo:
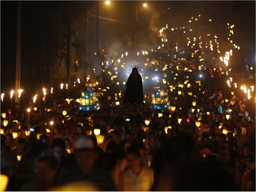
[[[85,83],[85,91],[81,92],[81,98],[79,99],[79,111],[99,110],[100,93],[93,92],[94,87],[96,87],[96,83]]]

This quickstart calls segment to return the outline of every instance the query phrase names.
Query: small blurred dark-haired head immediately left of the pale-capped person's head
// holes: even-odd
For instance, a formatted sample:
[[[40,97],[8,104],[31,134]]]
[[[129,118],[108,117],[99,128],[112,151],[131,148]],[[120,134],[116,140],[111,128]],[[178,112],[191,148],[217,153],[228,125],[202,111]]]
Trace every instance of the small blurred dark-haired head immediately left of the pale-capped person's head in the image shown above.
[[[66,150],[64,140],[62,138],[55,138],[52,141],[51,150],[55,158],[60,162]]]

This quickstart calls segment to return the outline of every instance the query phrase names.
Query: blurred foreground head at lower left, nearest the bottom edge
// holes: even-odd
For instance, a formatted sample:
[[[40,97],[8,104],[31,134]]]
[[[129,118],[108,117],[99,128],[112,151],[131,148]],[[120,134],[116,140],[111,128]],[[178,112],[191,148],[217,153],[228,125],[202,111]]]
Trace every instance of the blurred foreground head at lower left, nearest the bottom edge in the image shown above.
[[[58,161],[52,155],[39,157],[37,171],[37,176],[43,183],[52,182],[58,171]]]

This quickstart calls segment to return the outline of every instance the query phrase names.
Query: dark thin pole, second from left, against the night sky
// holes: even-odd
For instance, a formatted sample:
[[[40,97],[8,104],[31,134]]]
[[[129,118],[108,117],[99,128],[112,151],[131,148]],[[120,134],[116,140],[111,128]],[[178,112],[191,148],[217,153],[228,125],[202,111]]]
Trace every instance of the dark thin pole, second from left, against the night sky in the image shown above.
[[[70,3],[67,3],[67,83],[68,93],[70,95]]]

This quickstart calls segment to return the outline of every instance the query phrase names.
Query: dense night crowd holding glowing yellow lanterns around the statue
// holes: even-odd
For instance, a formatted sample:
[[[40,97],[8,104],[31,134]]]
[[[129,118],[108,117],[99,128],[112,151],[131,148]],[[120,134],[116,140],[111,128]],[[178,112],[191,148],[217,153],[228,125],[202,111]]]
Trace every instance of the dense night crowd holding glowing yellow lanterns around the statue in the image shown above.
[[[76,99],[61,95],[49,106],[30,105],[29,114],[19,103],[3,111],[6,190],[255,191],[255,108],[246,95],[232,95],[222,69],[209,63],[154,59],[141,66],[140,105],[116,105],[114,93],[124,88],[107,73],[122,70],[113,65],[99,75],[99,87],[111,89],[97,111],[79,111]],[[158,89],[174,110],[152,110]]]

